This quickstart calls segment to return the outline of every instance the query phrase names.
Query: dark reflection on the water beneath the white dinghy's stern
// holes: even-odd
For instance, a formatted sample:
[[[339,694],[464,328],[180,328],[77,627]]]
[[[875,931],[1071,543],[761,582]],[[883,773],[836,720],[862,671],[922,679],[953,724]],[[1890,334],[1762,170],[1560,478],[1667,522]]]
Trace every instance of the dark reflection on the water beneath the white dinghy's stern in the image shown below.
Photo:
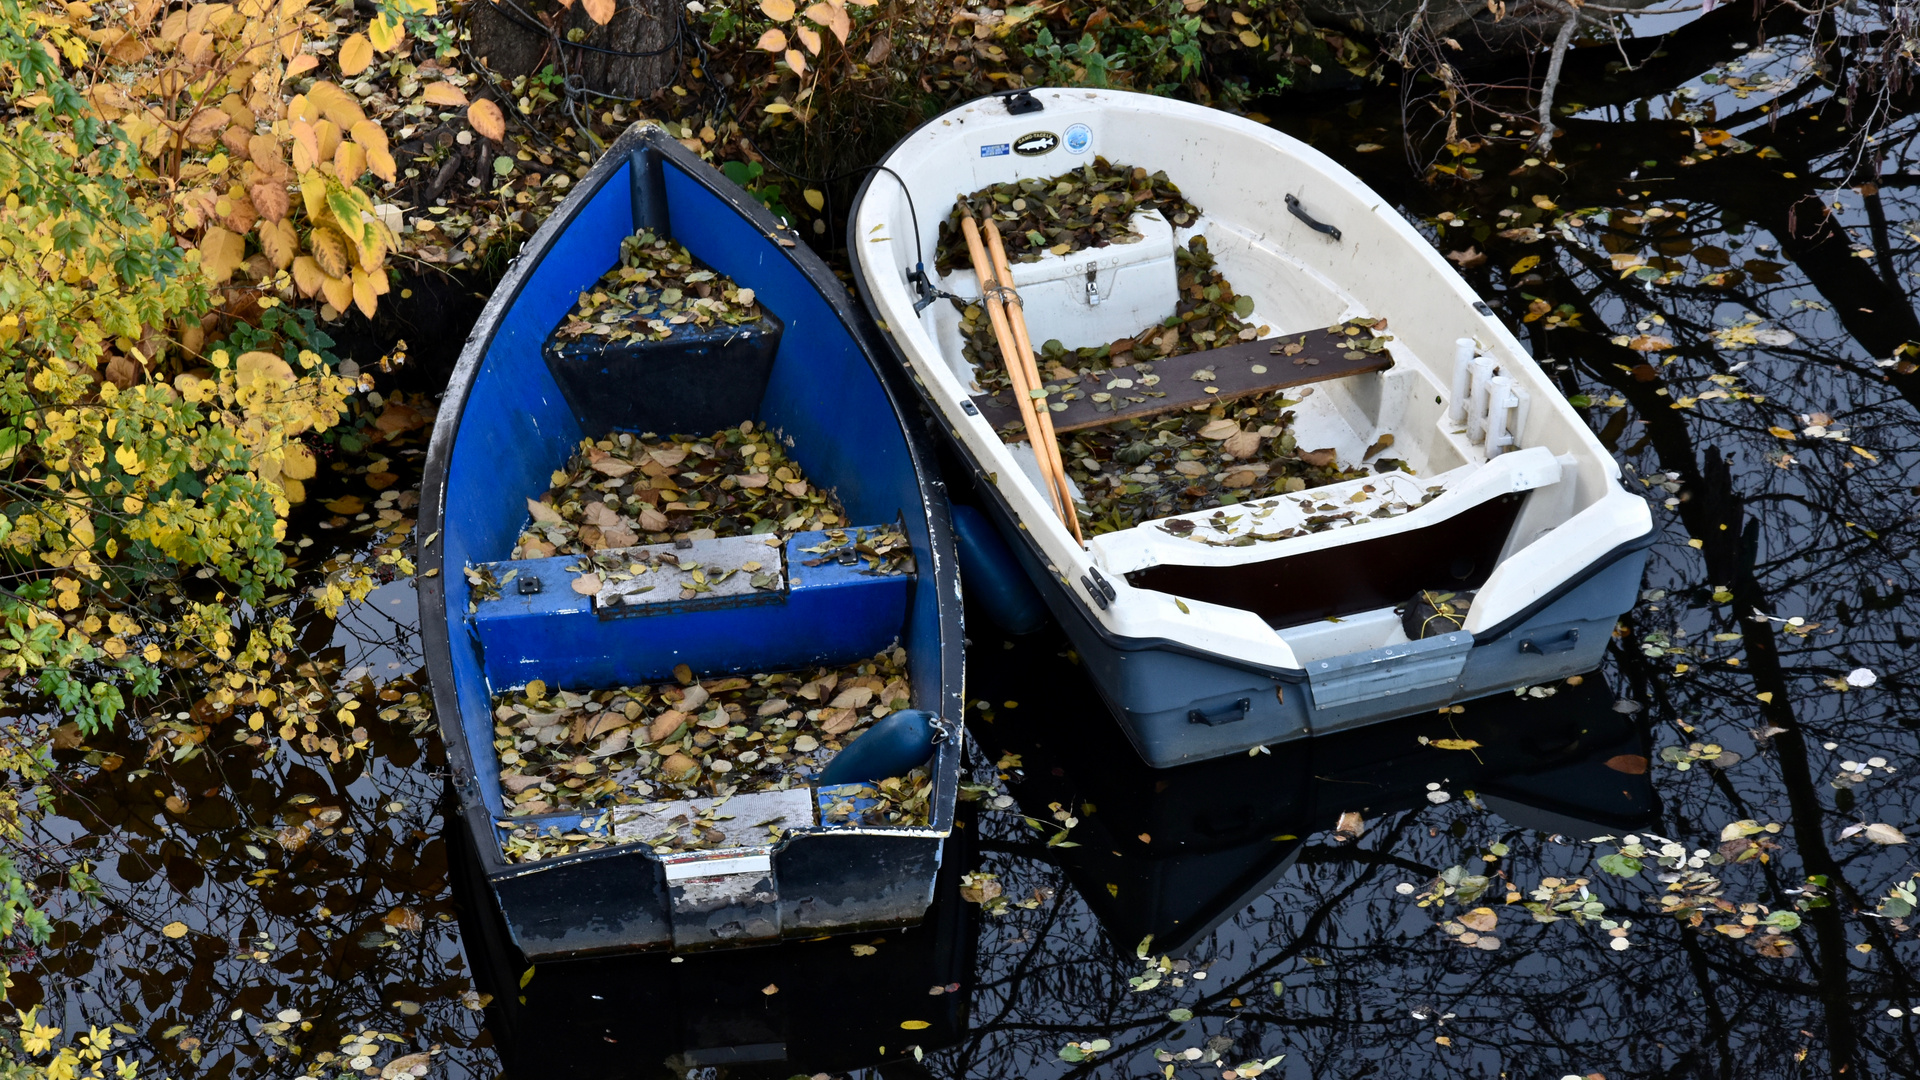
[[[1375,821],[1473,792],[1511,824],[1578,840],[1653,819],[1645,724],[1615,711],[1599,676],[1559,682],[1544,698],[1501,694],[1459,713],[1148,769],[1116,738],[1064,640],[1035,634],[1006,648],[998,634],[983,638],[968,698],[987,701],[993,723],[973,719],[975,738],[987,753],[1020,755],[1004,769],[1020,811],[1054,821],[1058,805],[1079,819],[1077,847],[1044,851],[1117,949],[1148,934],[1156,953],[1202,944],[1342,815]]]

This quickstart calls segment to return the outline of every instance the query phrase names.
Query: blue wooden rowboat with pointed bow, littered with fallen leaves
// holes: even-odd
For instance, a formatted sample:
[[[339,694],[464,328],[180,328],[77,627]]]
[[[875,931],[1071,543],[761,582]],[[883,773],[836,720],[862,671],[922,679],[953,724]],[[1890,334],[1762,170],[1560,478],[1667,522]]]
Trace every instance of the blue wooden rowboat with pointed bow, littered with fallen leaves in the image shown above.
[[[624,350],[557,348],[555,329],[622,259],[622,240],[641,231],[753,288],[764,317],[674,327],[664,340],[628,340]],[[899,926],[920,920],[931,901],[962,757],[956,561],[931,455],[902,423],[874,340],[872,323],[818,256],[657,127],[614,142],[528,240],[480,315],[428,450],[419,590],[455,832],[530,961]],[[582,586],[589,575],[580,557],[518,546],[528,502],[582,438],[716,429],[778,438],[785,459],[837,498],[843,528],[795,532],[791,519],[778,528],[760,521],[751,534],[655,532],[653,546],[616,552],[616,563],[651,555],[659,567],[662,553],[685,561],[691,552],[708,569],[772,569],[755,573],[751,588],[693,584],[693,571],[674,571],[689,582],[662,590],[674,600],[618,594],[611,584],[595,592]],[[910,559],[876,573],[852,548],[866,528],[904,534]],[[620,796],[584,809],[503,790],[503,755],[524,749],[497,726],[495,709],[511,711],[507,700],[572,694],[570,701],[599,707],[605,694],[595,694],[609,688],[660,684],[685,703],[676,686],[720,688],[741,682],[728,676],[751,682],[758,673],[822,671],[876,653],[904,665],[899,678],[910,684],[910,707],[897,700],[883,715],[881,703],[874,726],[845,736],[849,751],[864,734],[874,742],[862,769],[841,769],[858,776],[835,780],[874,782],[918,765],[925,798],[914,815],[876,819],[862,801],[872,790],[822,794],[818,771],[808,769],[781,778],[783,790],[678,799],[659,792],[657,803]],[[755,724],[766,711],[730,715],[733,724]],[[687,748],[699,736],[693,721],[684,728]],[[641,724],[632,742],[647,738]],[[580,761],[591,767],[591,757]],[[697,828],[682,828],[695,819]],[[674,830],[684,840],[662,844]],[[520,844],[509,857],[503,844],[513,836],[538,847]]]

